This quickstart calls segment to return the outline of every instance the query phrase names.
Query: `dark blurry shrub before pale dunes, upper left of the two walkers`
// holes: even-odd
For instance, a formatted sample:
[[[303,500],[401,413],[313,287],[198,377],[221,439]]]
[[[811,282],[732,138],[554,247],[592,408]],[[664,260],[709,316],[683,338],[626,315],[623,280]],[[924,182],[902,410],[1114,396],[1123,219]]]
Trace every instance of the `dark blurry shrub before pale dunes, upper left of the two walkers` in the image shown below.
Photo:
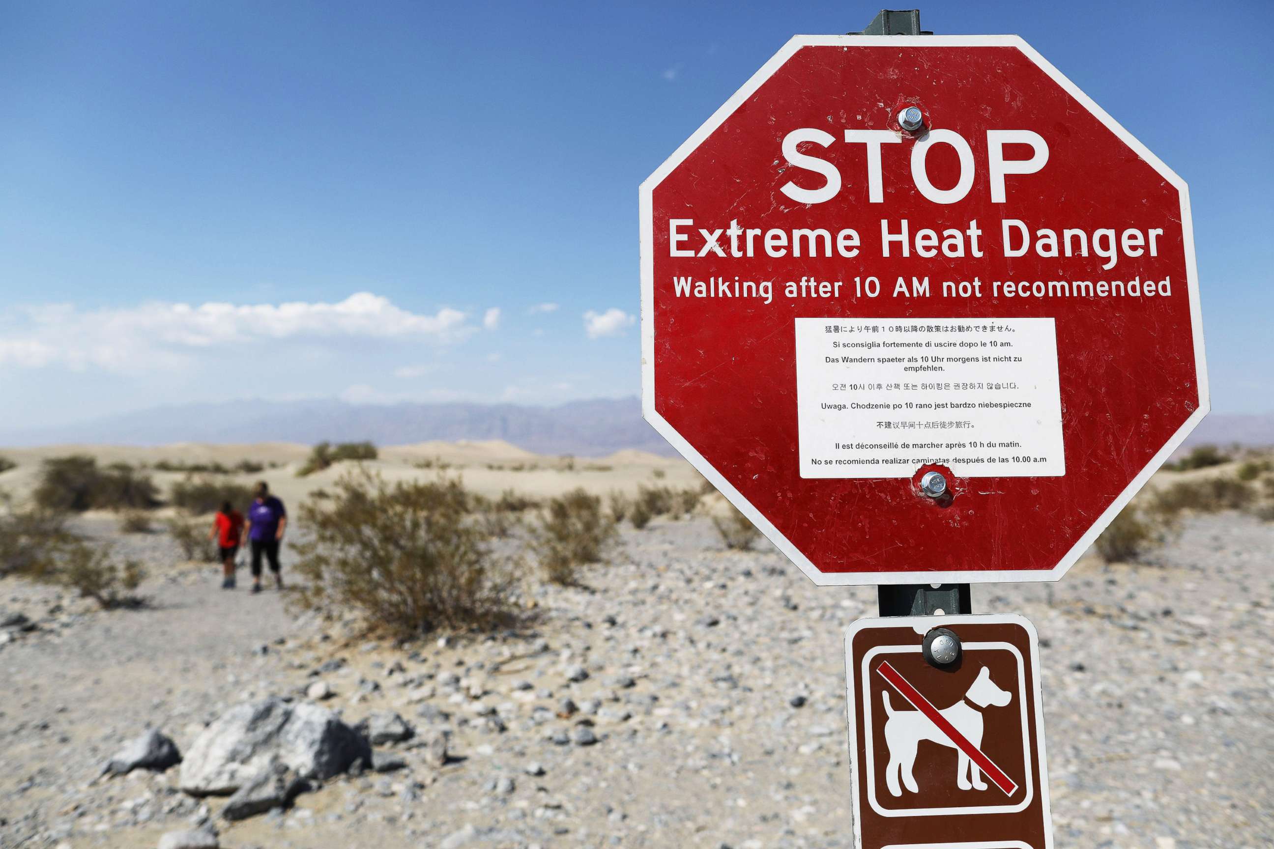
[[[89,509],[144,509],[158,504],[149,475],[127,463],[106,468],[87,454],[52,457],[41,470],[36,504],[47,509],[82,513]]]

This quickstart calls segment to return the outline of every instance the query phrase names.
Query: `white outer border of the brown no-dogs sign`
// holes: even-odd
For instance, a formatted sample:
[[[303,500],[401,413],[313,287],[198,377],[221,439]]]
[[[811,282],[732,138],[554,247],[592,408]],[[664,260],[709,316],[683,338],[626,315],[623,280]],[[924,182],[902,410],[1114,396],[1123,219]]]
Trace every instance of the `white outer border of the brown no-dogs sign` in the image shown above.
[[[1041,813],[1043,815],[1043,834],[1045,843],[1040,849],[1054,849],[1052,845],[1052,804],[1049,799],[1049,759],[1047,759],[1047,743],[1045,742],[1045,728],[1043,728],[1043,696],[1040,681],[1041,666],[1040,666],[1040,633],[1036,630],[1034,625],[1026,616],[1019,616],[1017,614],[966,614],[961,616],[880,616],[873,619],[860,619],[845,629],[845,690],[846,690],[846,726],[848,728],[848,742],[850,742],[850,792],[852,797],[852,815],[854,815],[854,846],[855,849],[862,849],[862,824],[859,821],[859,811],[862,804],[862,789],[859,787],[859,745],[857,745],[857,722],[855,715],[857,714],[857,704],[854,698],[854,638],[859,631],[866,630],[869,628],[911,628],[916,633],[916,638],[920,639],[924,634],[929,633],[933,628],[959,628],[961,625],[1018,625],[1027,633],[1028,642],[1031,643],[1031,692],[1034,695],[1034,720],[1036,720],[1036,736],[1034,745],[1038,754],[1040,765],[1040,804]],[[862,670],[866,670],[864,663]],[[1024,686],[1024,681],[1019,681]],[[1026,729],[1023,728],[1023,737],[1026,737]],[[950,813],[950,811],[948,811]],[[1001,841],[999,844],[894,844],[892,846],[885,846],[884,849],[930,849],[934,846],[1017,846],[1026,845],[1017,841]],[[1027,846],[1027,849],[1032,849]]]

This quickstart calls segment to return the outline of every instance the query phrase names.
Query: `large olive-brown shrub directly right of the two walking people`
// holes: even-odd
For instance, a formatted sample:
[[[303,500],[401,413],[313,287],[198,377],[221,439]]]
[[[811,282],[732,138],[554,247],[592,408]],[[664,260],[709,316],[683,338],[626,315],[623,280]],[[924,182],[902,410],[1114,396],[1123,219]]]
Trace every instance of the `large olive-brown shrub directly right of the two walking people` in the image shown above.
[[[490,536],[469,516],[456,480],[389,486],[363,471],[301,508],[308,538],[296,546],[306,583],[301,602],[357,610],[397,636],[438,626],[503,624],[510,573]]]

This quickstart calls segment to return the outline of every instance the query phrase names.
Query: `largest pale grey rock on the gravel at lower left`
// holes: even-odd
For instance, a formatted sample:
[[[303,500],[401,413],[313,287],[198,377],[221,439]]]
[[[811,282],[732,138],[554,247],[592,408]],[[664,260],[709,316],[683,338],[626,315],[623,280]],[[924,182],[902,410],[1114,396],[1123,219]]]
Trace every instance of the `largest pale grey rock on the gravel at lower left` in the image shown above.
[[[178,785],[191,796],[229,794],[275,762],[322,780],[371,756],[367,740],[333,712],[270,698],[236,705],[205,728],[181,764]]]

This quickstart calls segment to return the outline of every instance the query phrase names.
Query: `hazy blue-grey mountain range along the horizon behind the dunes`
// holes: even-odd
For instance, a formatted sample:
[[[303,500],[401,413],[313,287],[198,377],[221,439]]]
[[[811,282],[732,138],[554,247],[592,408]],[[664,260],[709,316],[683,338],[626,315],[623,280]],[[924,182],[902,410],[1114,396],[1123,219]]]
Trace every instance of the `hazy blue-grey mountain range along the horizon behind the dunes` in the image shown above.
[[[344,401],[232,401],[153,407],[60,428],[0,430],[0,446],[173,442],[401,446],[431,439],[505,439],[543,454],[596,457],[622,448],[673,454],[641,417],[634,398],[572,401],[555,407],[513,403],[347,403]],[[1200,443],[1274,446],[1274,414],[1212,414],[1190,435]]]

